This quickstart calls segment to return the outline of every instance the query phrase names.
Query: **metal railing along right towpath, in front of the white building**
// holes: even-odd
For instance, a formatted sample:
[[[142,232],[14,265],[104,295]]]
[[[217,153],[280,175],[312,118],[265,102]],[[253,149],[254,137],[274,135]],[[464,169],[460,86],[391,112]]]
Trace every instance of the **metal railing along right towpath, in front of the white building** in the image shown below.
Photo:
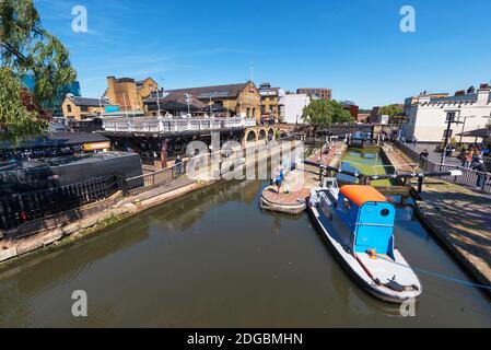
[[[491,174],[490,173],[481,173],[474,171],[471,168],[458,166],[458,165],[447,165],[447,164],[439,164],[430,161],[429,159],[421,158],[420,154],[408,147],[407,144],[395,140],[394,145],[398,148],[402,153],[405,153],[407,156],[409,156],[412,161],[420,164],[422,171],[424,173],[431,173],[431,172],[449,172],[449,171],[461,171],[461,176],[445,176],[442,177],[443,179],[454,183],[457,185],[464,185],[464,186],[470,186],[470,187],[477,187],[478,179],[481,180],[481,184],[479,186],[479,189],[486,194],[491,194]]]

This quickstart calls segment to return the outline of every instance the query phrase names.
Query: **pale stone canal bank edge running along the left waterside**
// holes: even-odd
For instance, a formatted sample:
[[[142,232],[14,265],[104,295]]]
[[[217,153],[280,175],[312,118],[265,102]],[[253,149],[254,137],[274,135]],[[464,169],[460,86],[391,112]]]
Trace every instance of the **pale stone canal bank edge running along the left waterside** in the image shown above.
[[[294,143],[294,147],[296,145],[297,143]],[[258,154],[248,162],[246,161],[243,166],[280,152],[281,148],[278,147],[270,150],[270,154]],[[17,230],[12,230],[0,241],[0,268],[9,268],[11,264],[32,254],[71,244],[147,209],[211,186],[219,180],[213,179],[210,173],[210,168],[204,168],[197,179],[183,176],[172,183],[128,198],[121,197],[121,192],[118,192],[105,201],[30,222]]]

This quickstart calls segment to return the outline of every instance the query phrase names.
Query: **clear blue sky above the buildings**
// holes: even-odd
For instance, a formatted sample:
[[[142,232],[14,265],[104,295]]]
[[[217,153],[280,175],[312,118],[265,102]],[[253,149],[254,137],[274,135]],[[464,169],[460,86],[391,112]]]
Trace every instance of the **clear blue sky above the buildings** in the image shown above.
[[[491,1],[35,0],[71,52],[82,93],[106,77],[152,77],[165,89],[243,82],[331,88],[360,106],[401,103],[491,80]],[[402,5],[416,33],[399,30]],[[73,33],[74,5],[87,33]]]

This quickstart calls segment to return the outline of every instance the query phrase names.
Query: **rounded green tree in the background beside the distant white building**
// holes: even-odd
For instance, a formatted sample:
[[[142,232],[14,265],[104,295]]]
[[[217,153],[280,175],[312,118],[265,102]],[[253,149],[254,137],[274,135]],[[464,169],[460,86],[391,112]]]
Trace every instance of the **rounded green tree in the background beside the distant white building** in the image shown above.
[[[303,110],[303,118],[314,128],[327,128],[334,122],[354,121],[351,114],[339,102],[327,100],[314,100]]]

